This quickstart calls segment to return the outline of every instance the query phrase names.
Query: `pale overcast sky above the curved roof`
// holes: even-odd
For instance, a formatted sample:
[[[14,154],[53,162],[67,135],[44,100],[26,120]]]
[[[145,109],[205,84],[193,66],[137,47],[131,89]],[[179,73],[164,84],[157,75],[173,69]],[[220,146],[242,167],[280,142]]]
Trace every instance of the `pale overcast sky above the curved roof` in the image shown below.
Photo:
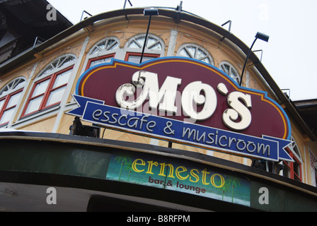
[[[123,8],[124,0],[48,0],[72,23],[83,10],[92,15]],[[176,7],[180,0],[130,0],[133,7]],[[127,3],[127,8],[130,8]],[[232,20],[231,32],[249,47],[256,32],[270,35],[253,50],[263,49],[263,64],[292,100],[317,98],[316,0],[183,0],[183,10],[221,25]],[[228,28],[225,26],[225,28]]]

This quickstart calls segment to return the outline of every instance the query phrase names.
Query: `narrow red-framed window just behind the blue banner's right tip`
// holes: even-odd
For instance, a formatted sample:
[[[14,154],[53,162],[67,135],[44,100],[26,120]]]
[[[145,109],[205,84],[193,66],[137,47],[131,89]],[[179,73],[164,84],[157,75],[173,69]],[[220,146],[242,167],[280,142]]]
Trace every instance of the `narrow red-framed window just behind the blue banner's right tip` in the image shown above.
[[[299,146],[293,137],[291,138],[291,141],[293,141],[293,143],[287,147],[287,152],[295,162],[283,161],[283,175],[284,177],[289,177],[301,182],[301,153],[299,152]]]

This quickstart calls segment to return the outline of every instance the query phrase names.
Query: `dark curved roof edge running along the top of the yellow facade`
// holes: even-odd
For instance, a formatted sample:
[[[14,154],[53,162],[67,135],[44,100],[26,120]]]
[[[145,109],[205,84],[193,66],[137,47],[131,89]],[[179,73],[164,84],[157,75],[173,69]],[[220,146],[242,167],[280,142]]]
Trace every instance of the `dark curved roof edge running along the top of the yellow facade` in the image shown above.
[[[50,40],[47,40],[46,42],[43,42],[42,44],[39,44],[38,46],[28,49],[27,51],[19,54],[13,59],[6,61],[4,64],[1,64],[0,73],[3,73],[4,71],[10,69],[11,67],[13,67],[14,65],[18,63],[21,63],[22,61],[35,59],[34,55],[38,54],[38,52],[41,52],[47,47],[52,46],[52,44],[55,44],[59,42],[60,40],[63,40],[69,35],[72,35],[75,32],[83,28],[86,28],[88,25],[92,25],[93,23],[96,23],[99,20],[115,18],[118,16],[125,16],[126,18],[128,18],[128,16],[132,16],[132,15],[144,15],[144,8],[122,8],[116,11],[100,13],[96,16],[91,16],[89,18],[86,18],[85,20],[80,21],[76,25],[73,25],[67,30],[64,30],[63,32],[60,32],[58,35],[55,35],[54,37],[50,38]],[[217,32],[219,35],[222,36],[221,41],[224,39],[227,39],[231,41],[232,43],[236,44],[236,46],[239,49],[241,49],[241,51],[244,54],[246,55],[248,54],[249,47],[245,43],[243,43],[241,40],[238,39],[238,37],[236,37],[231,32],[229,32],[229,30],[221,28],[219,25],[216,25],[210,22],[209,20],[205,20],[204,18],[195,16],[191,13],[184,12],[184,11],[175,11],[175,10],[173,11],[173,10],[160,8],[160,7],[155,7],[155,8],[159,9],[159,16],[173,18],[175,19],[175,23],[178,23],[180,20],[183,20],[190,23],[195,23],[209,30],[213,30],[214,32]],[[287,107],[287,110],[292,115],[292,117],[294,117],[294,119],[297,122],[300,122],[299,124],[301,125],[301,129],[303,129],[305,133],[307,133],[307,135],[309,136],[309,138],[311,138],[312,141],[316,141],[316,136],[313,135],[309,127],[306,125],[304,120],[299,115],[299,112],[292,105],[292,103],[289,102],[289,100],[284,95],[284,93],[282,93],[277,83],[275,83],[272,76],[270,76],[270,73],[268,73],[267,69],[265,69],[265,66],[263,66],[263,64],[260,62],[258,57],[253,52],[250,53],[249,60],[254,62],[255,68],[260,72],[260,74],[263,76],[267,84],[270,86],[270,88],[273,90],[275,95],[278,97],[278,99],[280,100],[279,104],[280,105],[284,104]]]

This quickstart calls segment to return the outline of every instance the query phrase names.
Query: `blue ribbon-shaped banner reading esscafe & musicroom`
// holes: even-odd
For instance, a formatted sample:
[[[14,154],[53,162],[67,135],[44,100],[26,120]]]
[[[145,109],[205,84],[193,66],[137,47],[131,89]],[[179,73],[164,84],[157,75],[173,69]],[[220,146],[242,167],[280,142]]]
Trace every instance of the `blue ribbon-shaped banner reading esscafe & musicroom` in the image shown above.
[[[222,129],[187,123],[151,114],[103,105],[103,101],[73,95],[79,107],[68,114],[82,117],[93,124],[153,136],[168,141],[187,143],[225,153],[279,162],[293,161],[284,148],[292,143],[279,138],[248,136]]]

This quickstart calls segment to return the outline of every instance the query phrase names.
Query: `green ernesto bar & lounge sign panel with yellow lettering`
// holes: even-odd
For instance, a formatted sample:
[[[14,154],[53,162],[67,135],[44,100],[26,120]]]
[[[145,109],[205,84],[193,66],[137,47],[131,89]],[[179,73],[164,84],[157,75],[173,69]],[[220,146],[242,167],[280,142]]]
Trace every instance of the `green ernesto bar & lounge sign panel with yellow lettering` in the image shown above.
[[[213,167],[151,155],[113,154],[106,179],[250,206],[250,182]]]

